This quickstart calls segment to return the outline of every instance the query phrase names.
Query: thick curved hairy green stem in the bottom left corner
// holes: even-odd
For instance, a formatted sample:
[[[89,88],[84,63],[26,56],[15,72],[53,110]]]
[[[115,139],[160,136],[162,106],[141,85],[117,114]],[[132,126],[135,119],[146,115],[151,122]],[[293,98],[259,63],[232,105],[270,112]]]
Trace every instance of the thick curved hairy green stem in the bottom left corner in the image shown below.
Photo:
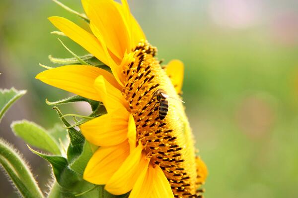
[[[0,139],[0,164],[24,198],[43,198],[28,165],[17,151]]]

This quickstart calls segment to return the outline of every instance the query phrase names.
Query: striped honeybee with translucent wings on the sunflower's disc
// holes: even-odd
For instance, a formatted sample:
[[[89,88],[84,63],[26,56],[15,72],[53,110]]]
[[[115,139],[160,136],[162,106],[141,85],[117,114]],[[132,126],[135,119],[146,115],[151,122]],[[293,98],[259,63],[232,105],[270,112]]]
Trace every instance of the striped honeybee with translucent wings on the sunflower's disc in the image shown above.
[[[159,116],[159,119],[160,120],[163,120],[165,118],[165,116],[167,115],[168,108],[169,108],[169,102],[168,102],[167,99],[168,98],[170,98],[170,99],[177,99],[177,98],[168,96],[165,93],[165,91],[163,91],[162,89],[156,90],[154,92],[153,96],[155,96],[156,99],[157,99],[156,104],[158,104],[158,116]],[[177,99],[177,100],[185,103],[181,99]],[[155,107],[155,105],[153,106],[153,108]]]

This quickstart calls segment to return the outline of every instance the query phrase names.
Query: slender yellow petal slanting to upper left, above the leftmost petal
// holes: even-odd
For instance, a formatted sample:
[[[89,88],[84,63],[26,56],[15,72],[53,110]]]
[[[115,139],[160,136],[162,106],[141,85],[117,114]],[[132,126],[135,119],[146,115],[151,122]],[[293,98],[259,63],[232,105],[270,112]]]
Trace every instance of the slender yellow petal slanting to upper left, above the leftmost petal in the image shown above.
[[[82,46],[84,49],[92,53],[96,58],[108,65],[109,54],[105,53],[105,51],[103,50],[103,47],[105,46],[102,46],[102,44],[96,39],[96,37],[66,18],[52,16],[49,17],[49,20],[60,31],[66,34],[66,36],[71,38],[74,42]]]

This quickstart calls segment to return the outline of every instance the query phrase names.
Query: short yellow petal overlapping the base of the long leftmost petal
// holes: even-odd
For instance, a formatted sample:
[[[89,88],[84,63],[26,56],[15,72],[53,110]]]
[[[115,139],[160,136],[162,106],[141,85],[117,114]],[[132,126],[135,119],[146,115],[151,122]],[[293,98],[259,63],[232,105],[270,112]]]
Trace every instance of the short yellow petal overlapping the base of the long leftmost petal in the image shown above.
[[[120,90],[110,84],[103,76],[99,76],[95,79],[94,87],[102,97],[103,104],[108,112],[123,107],[128,109],[128,103]]]

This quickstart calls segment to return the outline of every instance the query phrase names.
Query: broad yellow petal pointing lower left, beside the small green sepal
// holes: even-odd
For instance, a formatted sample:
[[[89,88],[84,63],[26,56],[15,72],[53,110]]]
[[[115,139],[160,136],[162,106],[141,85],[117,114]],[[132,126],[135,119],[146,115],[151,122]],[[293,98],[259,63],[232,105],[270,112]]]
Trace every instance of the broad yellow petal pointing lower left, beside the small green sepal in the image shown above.
[[[85,168],[83,178],[92,184],[106,184],[129,155],[128,142],[98,148]]]

